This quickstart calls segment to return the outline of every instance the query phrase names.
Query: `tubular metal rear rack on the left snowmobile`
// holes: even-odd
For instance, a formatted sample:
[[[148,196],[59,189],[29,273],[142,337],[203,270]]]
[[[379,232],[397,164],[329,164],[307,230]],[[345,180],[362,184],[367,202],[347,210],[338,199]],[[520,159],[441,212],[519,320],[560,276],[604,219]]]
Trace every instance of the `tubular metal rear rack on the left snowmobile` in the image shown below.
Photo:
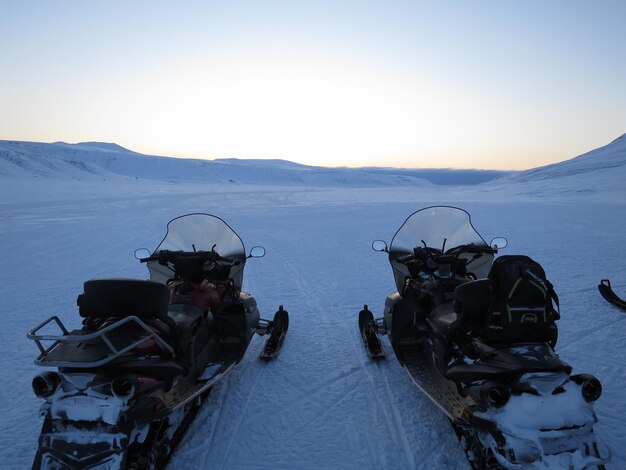
[[[57,324],[62,335],[38,334],[39,330],[52,322]],[[129,323],[133,323],[143,330],[139,339],[136,339],[136,330],[130,332],[132,335],[124,334],[128,333],[129,325],[127,324]],[[114,344],[114,341],[107,334],[124,325],[126,328],[119,330],[116,338],[113,339]],[[37,344],[40,351],[39,356],[35,359],[35,364],[46,367],[75,367],[79,369],[100,367],[113,362],[149,339],[154,340],[163,351],[175,355],[174,349],[163,338],[134,315],[122,318],[94,333],[80,334],[82,332],[83,330],[68,331],[56,315],[37,325],[26,335],[28,339],[32,339]],[[53,341],[53,343],[46,348],[42,341]],[[89,347],[81,347],[85,345]]]

